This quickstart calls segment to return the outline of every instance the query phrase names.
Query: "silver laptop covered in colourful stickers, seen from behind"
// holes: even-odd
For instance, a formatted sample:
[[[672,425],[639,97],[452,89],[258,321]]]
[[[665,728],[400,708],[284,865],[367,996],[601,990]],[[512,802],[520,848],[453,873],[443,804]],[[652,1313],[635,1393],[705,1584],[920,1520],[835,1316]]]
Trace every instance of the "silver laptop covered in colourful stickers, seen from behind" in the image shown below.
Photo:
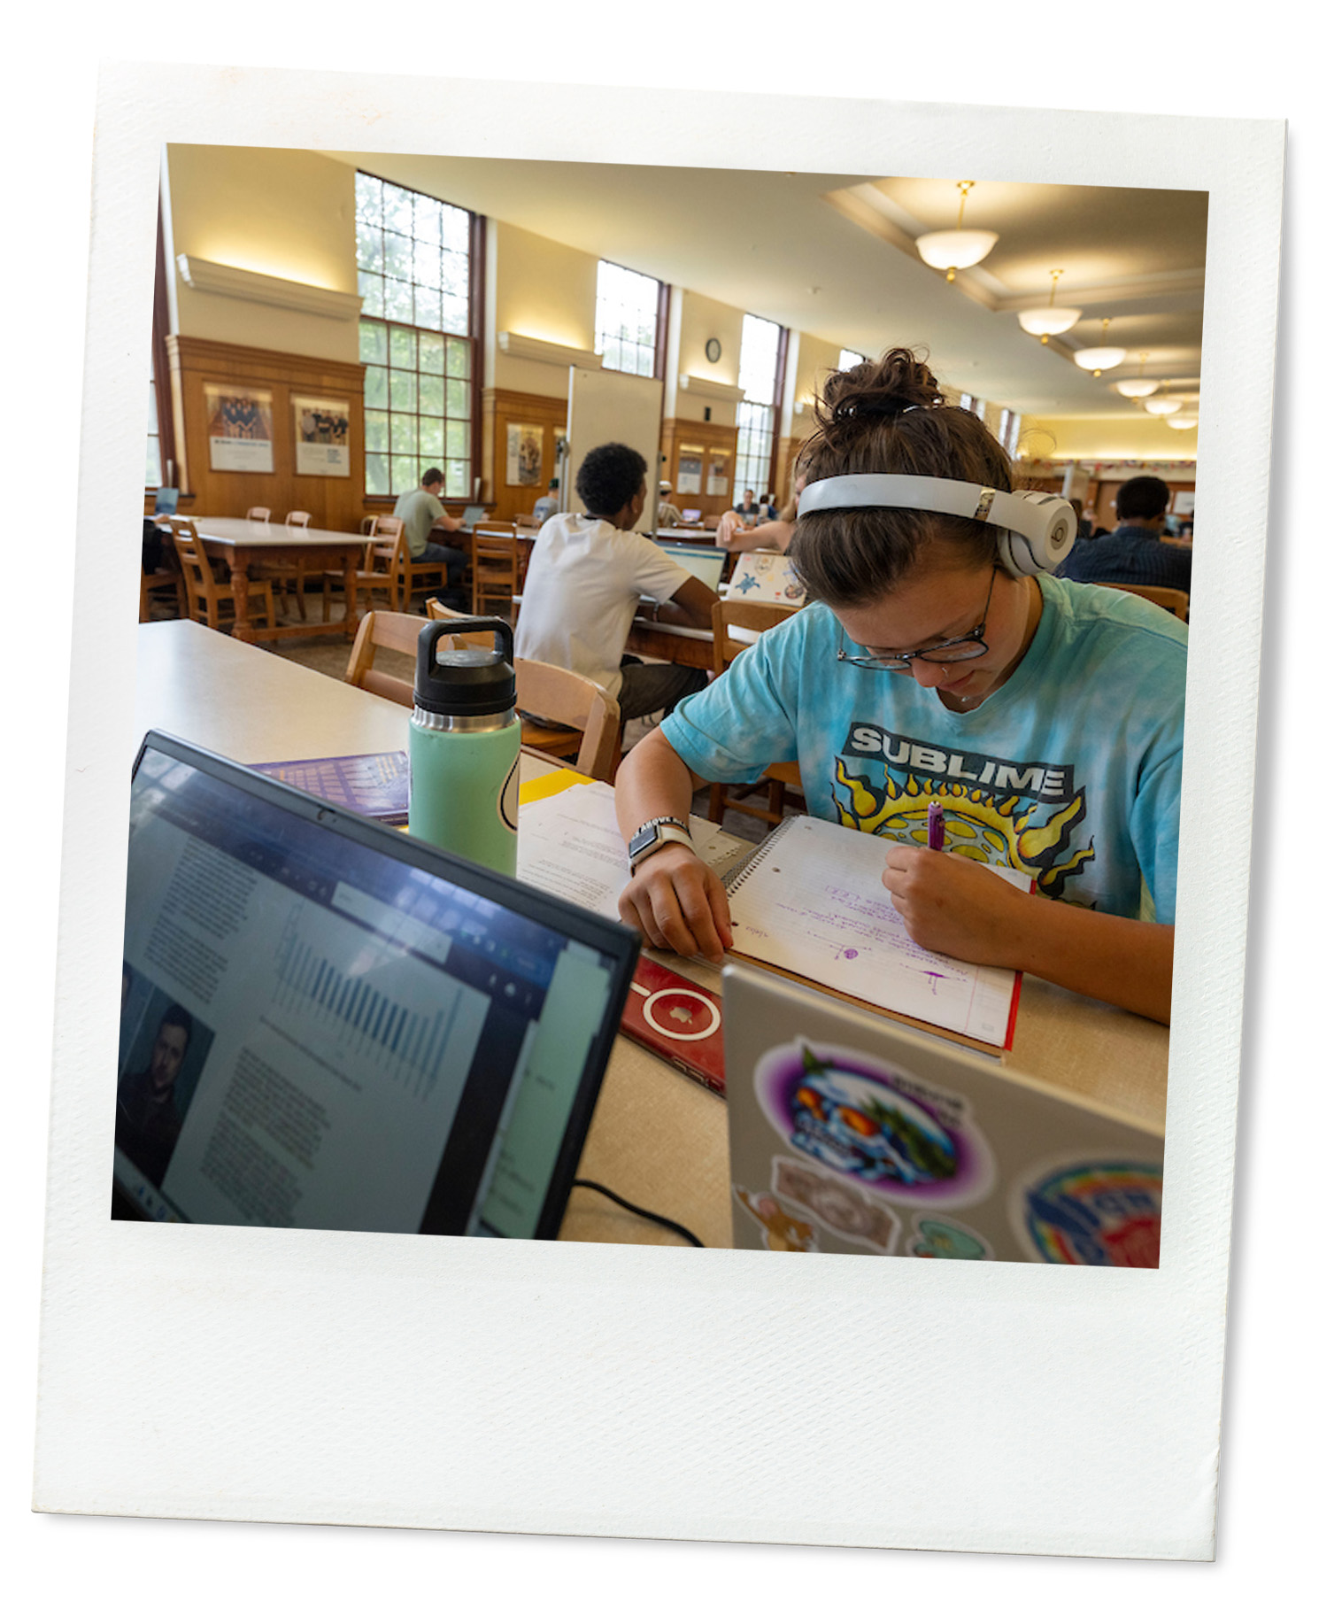
[[[1161,1129],[737,962],[723,1032],[736,1247],[1159,1264]]]

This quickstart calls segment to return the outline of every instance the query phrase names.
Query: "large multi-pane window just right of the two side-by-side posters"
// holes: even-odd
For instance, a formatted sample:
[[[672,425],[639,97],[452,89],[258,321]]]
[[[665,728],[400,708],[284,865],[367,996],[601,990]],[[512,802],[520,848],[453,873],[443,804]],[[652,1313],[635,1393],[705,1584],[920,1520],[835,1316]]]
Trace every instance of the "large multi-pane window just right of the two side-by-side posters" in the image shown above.
[[[354,176],[364,488],[404,493],[428,466],[448,498],[471,495],[471,213]]]

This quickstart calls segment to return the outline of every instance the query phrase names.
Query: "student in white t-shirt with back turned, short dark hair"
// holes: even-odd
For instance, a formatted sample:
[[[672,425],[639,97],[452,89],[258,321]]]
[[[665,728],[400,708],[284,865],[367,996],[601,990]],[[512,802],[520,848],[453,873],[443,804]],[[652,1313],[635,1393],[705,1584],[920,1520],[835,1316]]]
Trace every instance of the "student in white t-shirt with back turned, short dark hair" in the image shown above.
[[[716,595],[660,545],[629,532],[644,514],[648,462],[624,443],[592,450],[577,471],[584,514],[551,516],[537,534],[522,587],[517,657],[572,668],[619,700],[621,720],[671,708],[702,690],[702,668],[624,658],[642,595],[656,623],[708,629]]]

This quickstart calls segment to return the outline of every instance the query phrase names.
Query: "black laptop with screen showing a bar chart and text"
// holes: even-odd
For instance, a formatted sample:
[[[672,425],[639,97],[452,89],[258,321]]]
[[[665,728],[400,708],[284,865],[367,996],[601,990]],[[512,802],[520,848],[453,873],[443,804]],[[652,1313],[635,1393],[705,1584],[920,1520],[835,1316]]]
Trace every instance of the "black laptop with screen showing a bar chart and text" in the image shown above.
[[[624,927],[150,731],[113,1216],[556,1235],[637,952]]]

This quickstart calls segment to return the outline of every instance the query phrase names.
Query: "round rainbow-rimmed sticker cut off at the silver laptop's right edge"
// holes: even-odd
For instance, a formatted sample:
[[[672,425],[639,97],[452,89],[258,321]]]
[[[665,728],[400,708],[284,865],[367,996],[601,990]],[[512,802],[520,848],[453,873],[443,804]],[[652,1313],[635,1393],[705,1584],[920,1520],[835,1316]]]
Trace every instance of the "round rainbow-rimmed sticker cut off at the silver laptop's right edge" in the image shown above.
[[[1015,1234],[1036,1263],[1156,1269],[1159,1164],[1091,1158],[1038,1166],[1011,1198]]]

